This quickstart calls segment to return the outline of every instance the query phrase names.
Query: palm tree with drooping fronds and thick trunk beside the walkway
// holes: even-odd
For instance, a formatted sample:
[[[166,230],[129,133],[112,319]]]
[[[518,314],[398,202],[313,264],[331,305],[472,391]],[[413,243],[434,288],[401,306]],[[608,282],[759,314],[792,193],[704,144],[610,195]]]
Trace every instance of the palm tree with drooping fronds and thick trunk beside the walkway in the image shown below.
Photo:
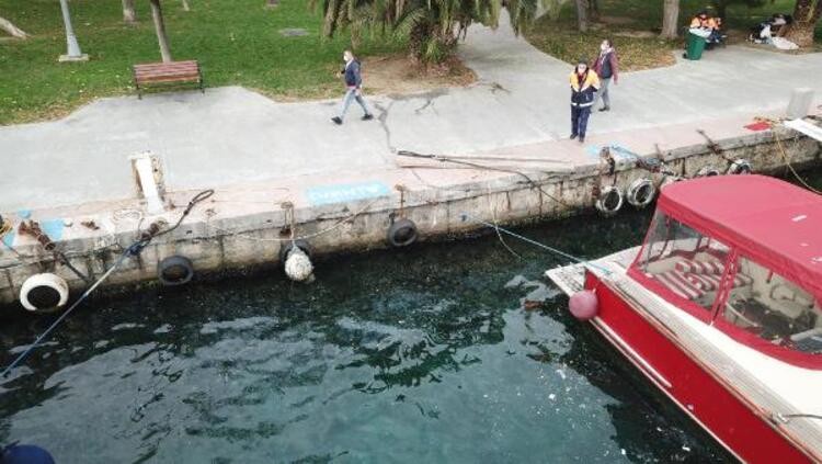
[[[366,30],[390,31],[409,37],[413,57],[442,61],[472,23],[496,27],[503,8],[518,34],[536,15],[539,0],[311,0],[311,5],[320,1],[328,37],[347,27],[356,43]]]

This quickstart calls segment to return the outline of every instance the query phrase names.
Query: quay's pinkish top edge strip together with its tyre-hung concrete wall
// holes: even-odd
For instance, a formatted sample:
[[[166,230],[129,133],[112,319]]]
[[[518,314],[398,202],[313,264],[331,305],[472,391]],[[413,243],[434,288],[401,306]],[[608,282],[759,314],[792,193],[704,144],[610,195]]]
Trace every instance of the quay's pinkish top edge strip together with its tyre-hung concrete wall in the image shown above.
[[[285,202],[294,206],[295,235],[306,237],[316,254],[323,256],[388,247],[387,229],[399,216],[416,224],[422,240],[431,240],[483,227],[476,219],[510,225],[575,214],[593,206],[597,186],[615,183],[626,189],[639,178],[660,185],[670,177],[638,167],[639,158],[662,160],[667,170],[686,178],[706,167],[726,172],[737,159],[750,161],[757,172],[770,173],[784,172],[786,157],[798,168],[819,166],[822,155],[815,140],[777,127],[783,156],[774,131],[743,127],[751,122],[727,118],[680,124],[600,134],[585,145],[553,140],[457,158],[470,160],[476,165],[471,167],[397,157],[396,168],[345,178],[297,176],[222,185],[180,228],[152,240],[138,258],[126,260],[104,287],[155,283],[158,262],[173,254],[191,259],[198,275],[273,268],[281,246],[289,240]],[[708,146],[699,129],[716,145]],[[601,162],[603,146],[610,147],[616,161],[613,176]],[[397,185],[402,185],[402,193]],[[176,223],[196,193],[167,193],[165,213],[155,216],[147,213],[145,201],[134,199],[5,213],[5,217],[15,225],[23,216],[38,220],[70,262],[96,279],[150,223],[165,227]],[[25,279],[43,271],[62,276],[76,292],[85,286],[33,238],[15,231],[5,242],[14,251],[0,249],[0,303],[13,303]]]

